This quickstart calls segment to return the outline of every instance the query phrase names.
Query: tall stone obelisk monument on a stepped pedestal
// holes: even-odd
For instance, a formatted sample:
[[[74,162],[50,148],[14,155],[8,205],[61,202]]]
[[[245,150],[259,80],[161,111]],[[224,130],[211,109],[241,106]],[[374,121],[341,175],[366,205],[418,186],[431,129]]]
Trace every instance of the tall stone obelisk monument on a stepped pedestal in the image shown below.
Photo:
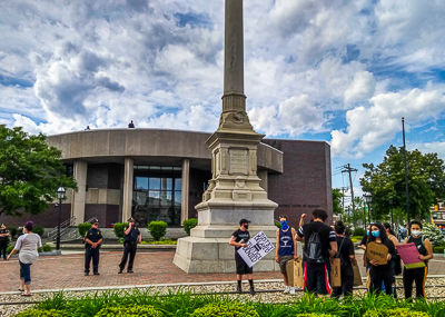
[[[257,176],[257,147],[264,135],[254,131],[244,95],[243,0],[226,0],[222,113],[216,132],[206,141],[211,150],[209,187],[196,206],[198,226],[178,240],[174,264],[187,273],[235,271],[229,246],[239,220],[251,221],[250,236],[264,231],[275,242],[274,210]],[[255,270],[275,270],[275,252]]]

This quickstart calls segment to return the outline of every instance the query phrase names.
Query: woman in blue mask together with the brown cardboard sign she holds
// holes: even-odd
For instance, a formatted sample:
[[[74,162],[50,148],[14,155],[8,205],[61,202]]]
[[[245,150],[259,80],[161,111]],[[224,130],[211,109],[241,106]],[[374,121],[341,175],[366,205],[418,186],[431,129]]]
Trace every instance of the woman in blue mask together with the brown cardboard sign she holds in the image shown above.
[[[396,248],[386,235],[385,227],[375,222],[370,226],[370,235],[366,245],[366,257],[369,260],[369,290],[392,295],[394,266],[392,260],[396,257]]]

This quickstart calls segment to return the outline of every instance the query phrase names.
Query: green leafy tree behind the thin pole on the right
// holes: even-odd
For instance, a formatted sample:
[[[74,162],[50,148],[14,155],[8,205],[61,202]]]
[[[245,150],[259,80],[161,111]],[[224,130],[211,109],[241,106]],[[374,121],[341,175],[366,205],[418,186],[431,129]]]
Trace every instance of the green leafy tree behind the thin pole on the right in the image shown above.
[[[445,197],[445,166],[437,153],[423,155],[406,151],[411,218],[426,219],[429,207]],[[390,208],[406,210],[405,169],[403,147],[390,146],[382,164],[364,164],[366,169],[360,185],[373,195],[373,220],[387,218]],[[393,205],[389,199],[393,198]]]

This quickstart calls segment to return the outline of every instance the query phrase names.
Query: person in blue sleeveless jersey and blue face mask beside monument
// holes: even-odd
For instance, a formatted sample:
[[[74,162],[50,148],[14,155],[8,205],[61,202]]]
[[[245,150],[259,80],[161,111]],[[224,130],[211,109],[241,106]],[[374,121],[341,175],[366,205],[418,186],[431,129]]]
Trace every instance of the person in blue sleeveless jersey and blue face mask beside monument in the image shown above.
[[[285,281],[285,294],[295,294],[294,286],[289,286],[287,278],[287,262],[291,259],[298,259],[297,256],[297,240],[295,239],[296,231],[287,224],[287,216],[279,216],[281,228],[277,230],[277,248],[275,252],[275,260],[279,265],[279,270],[283,274]]]

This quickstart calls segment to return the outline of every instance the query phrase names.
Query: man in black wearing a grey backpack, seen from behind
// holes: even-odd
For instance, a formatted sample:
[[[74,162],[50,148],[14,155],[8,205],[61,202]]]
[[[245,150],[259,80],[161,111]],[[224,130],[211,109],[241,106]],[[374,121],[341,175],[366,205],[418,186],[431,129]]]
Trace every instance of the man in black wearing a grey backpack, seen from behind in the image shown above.
[[[324,209],[315,209],[313,219],[314,222],[299,228],[296,239],[305,241],[304,289],[324,297],[330,295],[329,257],[337,254],[337,237],[335,231],[324,224],[327,219]]]

